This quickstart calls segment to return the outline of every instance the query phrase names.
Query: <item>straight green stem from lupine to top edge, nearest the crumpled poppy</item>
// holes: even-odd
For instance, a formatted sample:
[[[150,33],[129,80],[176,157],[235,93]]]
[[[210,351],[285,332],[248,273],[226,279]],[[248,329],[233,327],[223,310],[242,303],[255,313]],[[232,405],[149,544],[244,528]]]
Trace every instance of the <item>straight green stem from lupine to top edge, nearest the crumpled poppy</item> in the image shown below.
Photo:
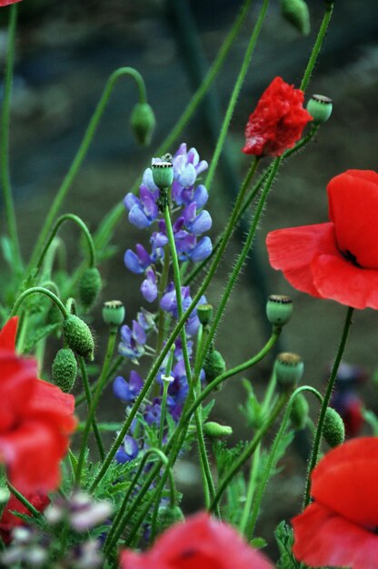
[[[213,158],[210,162],[209,171],[208,171],[206,178],[205,178],[205,181],[204,181],[204,185],[206,186],[206,188],[208,190],[210,190],[210,187],[213,183],[215,170],[216,170],[216,167],[218,165],[219,158],[220,158],[220,155],[221,155],[223,147],[224,147],[224,141],[225,141],[225,138],[227,136],[228,127],[230,126],[231,119],[232,119],[233,113],[234,113],[234,108],[235,108],[235,105],[237,103],[237,99],[238,99],[238,96],[240,94],[242,85],[244,84],[245,75],[247,74],[248,67],[251,63],[252,55],[254,54],[254,47],[255,47],[257,40],[258,40],[258,37],[260,35],[261,28],[264,24],[264,19],[265,19],[265,15],[266,15],[268,6],[269,6],[269,0],[264,0],[263,5],[262,5],[261,10],[260,10],[260,14],[257,18],[256,24],[254,25],[254,31],[251,35],[251,39],[249,41],[249,44],[248,44],[247,49],[246,49],[245,54],[244,54],[243,64],[240,68],[239,75],[237,76],[236,82],[234,84],[233,93],[231,95],[230,102],[229,102],[228,107],[226,109],[226,112],[224,115],[224,122],[223,122],[223,125],[221,127],[221,132],[218,136],[218,140],[217,140],[217,143],[215,146],[214,155],[213,155]]]

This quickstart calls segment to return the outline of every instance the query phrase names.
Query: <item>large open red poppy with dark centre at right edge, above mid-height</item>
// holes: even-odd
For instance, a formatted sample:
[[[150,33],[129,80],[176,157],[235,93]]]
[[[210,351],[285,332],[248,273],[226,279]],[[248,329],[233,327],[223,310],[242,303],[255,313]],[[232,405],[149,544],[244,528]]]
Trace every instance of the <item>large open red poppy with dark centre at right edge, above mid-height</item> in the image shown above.
[[[347,170],[327,191],[331,221],[270,233],[270,264],[304,293],[378,308],[378,174]]]

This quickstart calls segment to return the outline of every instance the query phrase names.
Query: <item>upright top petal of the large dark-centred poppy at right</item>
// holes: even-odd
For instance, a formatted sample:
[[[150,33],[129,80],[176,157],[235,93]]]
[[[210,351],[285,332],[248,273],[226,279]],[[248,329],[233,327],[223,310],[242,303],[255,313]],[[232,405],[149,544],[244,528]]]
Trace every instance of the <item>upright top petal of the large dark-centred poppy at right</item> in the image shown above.
[[[339,248],[366,269],[378,269],[378,175],[348,170],[327,186]]]

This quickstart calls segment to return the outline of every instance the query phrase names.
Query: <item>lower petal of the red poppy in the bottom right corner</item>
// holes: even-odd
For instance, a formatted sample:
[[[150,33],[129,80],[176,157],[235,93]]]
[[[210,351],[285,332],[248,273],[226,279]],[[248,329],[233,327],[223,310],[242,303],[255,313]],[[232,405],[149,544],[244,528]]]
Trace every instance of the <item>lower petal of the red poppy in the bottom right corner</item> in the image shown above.
[[[352,524],[319,504],[292,520],[293,554],[311,567],[378,567],[378,535]]]

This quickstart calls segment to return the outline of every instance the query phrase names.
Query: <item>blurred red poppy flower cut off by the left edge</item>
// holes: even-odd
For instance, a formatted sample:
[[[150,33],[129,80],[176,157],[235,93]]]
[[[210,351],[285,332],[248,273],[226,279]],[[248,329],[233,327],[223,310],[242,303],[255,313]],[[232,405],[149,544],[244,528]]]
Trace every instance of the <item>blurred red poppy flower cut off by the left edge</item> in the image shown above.
[[[57,487],[59,464],[75,429],[75,399],[36,376],[36,362],[15,354],[17,318],[0,332],[0,461],[23,494]]]

